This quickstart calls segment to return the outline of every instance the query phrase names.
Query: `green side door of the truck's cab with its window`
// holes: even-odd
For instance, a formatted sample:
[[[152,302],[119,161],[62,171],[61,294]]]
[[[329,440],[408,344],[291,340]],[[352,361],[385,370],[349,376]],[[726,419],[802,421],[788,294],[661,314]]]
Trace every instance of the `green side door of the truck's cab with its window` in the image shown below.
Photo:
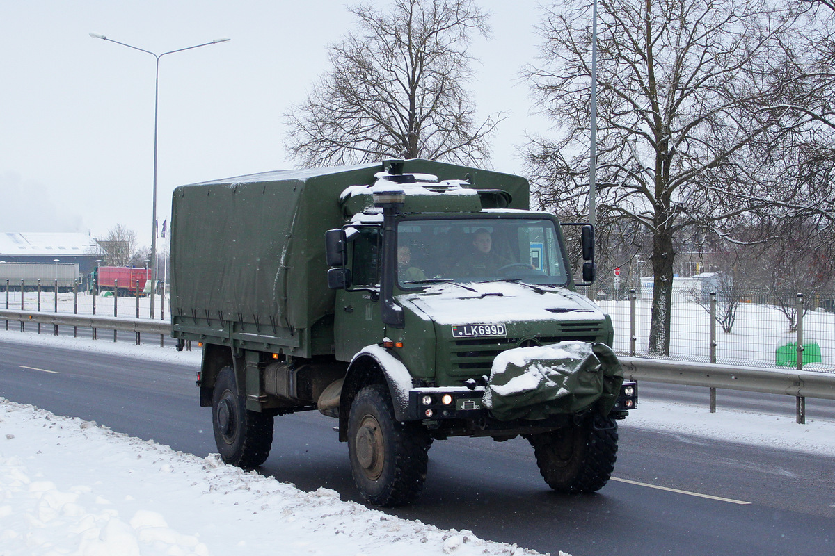
[[[347,245],[351,282],[337,290],[334,308],[336,356],[350,361],[359,350],[382,342],[385,326],[380,318],[382,231],[377,226],[355,226]]]

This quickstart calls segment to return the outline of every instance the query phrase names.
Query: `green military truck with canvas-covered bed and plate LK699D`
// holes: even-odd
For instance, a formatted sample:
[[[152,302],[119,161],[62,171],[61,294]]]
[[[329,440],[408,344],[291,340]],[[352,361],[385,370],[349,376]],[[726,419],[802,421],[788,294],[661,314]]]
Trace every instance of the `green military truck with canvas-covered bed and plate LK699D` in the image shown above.
[[[274,418],[317,409],[369,503],[415,500],[453,436],[522,435],[551,488],[602,488],[635,383],[559,221],[528,202],[524,178],[420,159],[177,188],[173,335],[203,344],[223,460],[261,465]]]

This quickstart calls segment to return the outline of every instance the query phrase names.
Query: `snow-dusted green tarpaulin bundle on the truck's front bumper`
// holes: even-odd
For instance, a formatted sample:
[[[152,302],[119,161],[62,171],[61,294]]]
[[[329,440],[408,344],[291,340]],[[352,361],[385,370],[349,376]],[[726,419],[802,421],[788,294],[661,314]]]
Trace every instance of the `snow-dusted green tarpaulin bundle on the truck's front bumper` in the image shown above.
[[[589,408],[607,415],[621,383],[623,369],[603,343],[514,348],[493,360],[483,403],[502,421],[543,419]]]

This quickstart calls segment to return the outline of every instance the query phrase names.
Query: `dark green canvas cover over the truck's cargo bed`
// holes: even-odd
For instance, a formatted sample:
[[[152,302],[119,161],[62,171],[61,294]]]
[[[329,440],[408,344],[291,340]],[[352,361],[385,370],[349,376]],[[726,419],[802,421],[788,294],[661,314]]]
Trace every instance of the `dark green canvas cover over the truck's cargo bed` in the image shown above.
[[[325,232],[345,223],[340,197],[371,185],[384,164],[252,174],[175,189],[171,225],[171,318],[178,324],[255,324],[261,335],[310,334],[333,313]],[[527,208],[524,178],[421,159],[402,173],[439,180],[469,176],[474,188],[504,189]],[[243,327],[245,328],[245,327]],[[310,356],[310,338],[301,342]]]

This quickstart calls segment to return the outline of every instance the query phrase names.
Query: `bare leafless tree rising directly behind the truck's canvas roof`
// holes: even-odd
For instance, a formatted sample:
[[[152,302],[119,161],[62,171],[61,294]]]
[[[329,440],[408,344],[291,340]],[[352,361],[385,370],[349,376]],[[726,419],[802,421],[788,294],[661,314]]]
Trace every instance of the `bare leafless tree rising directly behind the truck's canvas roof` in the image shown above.
[[[485,163],[501,117],[477,123],[473,33],[487,14],[473,0],[394,0],[388,12],[348,8],[357,30],[331,47],[332,69],[285,114],[286,148],[307,166],[384,157]]]

